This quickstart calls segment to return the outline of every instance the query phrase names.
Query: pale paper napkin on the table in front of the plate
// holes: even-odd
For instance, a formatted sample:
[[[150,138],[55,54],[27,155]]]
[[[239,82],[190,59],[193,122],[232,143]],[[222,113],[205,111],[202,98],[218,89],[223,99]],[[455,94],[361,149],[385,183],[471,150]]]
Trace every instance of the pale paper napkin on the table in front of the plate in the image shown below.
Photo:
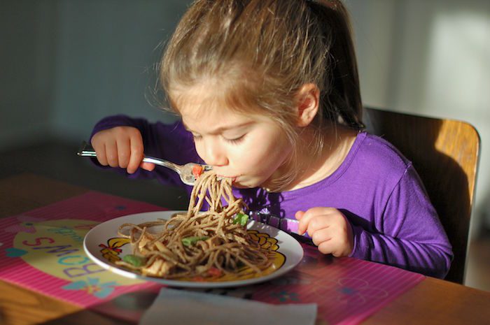
[[[163,288],[140,325],[313,325],[316,304],[273,305]]]

